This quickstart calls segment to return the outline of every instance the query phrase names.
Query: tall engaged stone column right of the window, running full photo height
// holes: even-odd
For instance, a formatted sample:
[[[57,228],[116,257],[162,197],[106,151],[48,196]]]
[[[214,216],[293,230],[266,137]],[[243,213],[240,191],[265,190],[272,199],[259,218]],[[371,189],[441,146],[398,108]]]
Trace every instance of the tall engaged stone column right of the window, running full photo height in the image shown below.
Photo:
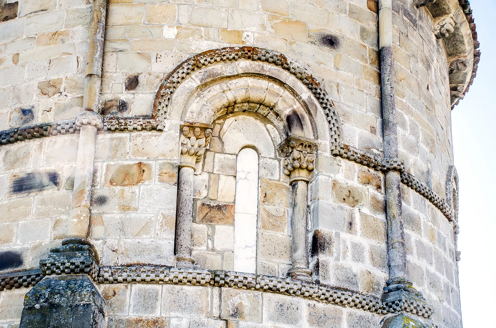
[[[384,160],[384,186],[386,191],[387,219],[387,255],[389,280],[382,295],[386,304],[425,303],[422,293],[417,291],[408,280],[406,265],[405,232],[402,220],[401,177],[403,162],[398,159],[398,136],[396,128],[396,105],[394,101],[394,61],[392,39],[392,0],[379,0],[379,55],[382,92],[382,134]],[[398,304],[398,303],[396,303]],[[403,322],[415,322],[416,327],[423,327],[407,314],[397,318],[386,318],[382,328],[400,328]]]

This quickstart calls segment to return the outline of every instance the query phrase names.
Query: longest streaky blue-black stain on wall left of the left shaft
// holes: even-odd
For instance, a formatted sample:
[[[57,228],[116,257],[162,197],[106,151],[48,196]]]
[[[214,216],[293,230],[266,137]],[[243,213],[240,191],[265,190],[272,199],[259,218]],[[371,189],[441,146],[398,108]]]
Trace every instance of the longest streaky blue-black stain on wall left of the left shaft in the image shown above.
[[[10,192],[21,194],[56,188],[59,185],[59,180],[60,175],[55,171],[29,172],[12,180]]]

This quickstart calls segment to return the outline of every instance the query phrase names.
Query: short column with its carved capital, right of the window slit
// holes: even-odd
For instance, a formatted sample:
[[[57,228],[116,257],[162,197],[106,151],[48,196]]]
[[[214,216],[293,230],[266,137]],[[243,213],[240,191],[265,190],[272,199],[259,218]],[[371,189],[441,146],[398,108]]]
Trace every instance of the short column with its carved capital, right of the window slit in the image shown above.
[[[314,168],[317,144],[313,141],[289,136],[279,145],[284,158],[284,173],[290,177],[292,188],[292,268],[288,276],[311,281],[308,250],[308,183]]]

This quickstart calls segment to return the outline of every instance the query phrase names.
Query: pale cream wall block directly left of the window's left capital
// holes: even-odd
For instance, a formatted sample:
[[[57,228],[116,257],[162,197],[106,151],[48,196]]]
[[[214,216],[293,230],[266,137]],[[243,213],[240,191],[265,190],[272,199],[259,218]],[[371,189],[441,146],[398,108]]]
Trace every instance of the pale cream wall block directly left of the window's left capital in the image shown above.
[[[141,132],[131,135],[131,156],[134,158],[177,159],[179,138],[172,133]]]

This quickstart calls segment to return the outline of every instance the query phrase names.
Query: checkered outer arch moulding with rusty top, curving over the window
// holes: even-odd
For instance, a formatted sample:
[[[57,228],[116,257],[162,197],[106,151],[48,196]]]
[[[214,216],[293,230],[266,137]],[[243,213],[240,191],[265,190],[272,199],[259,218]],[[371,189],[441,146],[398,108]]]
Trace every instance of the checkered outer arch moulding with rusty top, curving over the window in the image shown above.
[[[339,126],[341,124],[339,116],[334,110],[327,92],[311,75],[310,71],[291,61],[281,53],[257,47],[228,47],[209,50],[192,56],[176,67],[161,83],[155,98],[153,118],[158,121],[157,130],[163,130],[163,123],[166,119],[172,96],[188,75],[208,65],[238,60],[262,61],[270,63],[280,66],[283,70],[288,71],[290,74],[298,78],[318,101],[327,118],[327,122],[329,124],[330,143],[335,144],[339,142]],[[262,71],[259,73],[264,74],[265,72]],[[213,78],[220,76],[221,75],[214,76]]]

